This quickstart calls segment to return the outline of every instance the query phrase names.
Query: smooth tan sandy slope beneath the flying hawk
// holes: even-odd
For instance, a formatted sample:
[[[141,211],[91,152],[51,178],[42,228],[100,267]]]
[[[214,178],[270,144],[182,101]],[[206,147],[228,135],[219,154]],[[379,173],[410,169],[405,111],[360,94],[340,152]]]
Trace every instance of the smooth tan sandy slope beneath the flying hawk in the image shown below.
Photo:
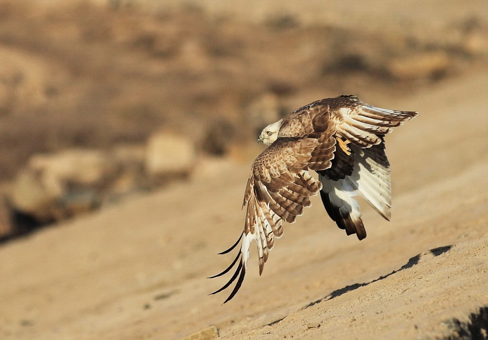
[[[363,208],[368,237],[320,201],[239,294],[206,294],[243,225],[248,164],[200,177],[0,247],[1,339],[419,339],[488,305],[488,74],[402,102],[421,117],[387,139],[392,221]],[[431,249],[439,248],[435,251]],[[253,258],[254,259],[254,258]],[[280,321],[278,321],[280,320]]]

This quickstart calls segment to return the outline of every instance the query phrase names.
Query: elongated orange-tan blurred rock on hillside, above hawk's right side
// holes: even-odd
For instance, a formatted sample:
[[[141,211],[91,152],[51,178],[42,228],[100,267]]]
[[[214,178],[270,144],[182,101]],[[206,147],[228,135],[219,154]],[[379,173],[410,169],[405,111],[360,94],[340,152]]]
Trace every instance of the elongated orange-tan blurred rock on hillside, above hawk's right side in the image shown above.
[[[387,72],[397,80],[437,79],[447,74],[450,60],[446,52],[424,52],[386,64]]]

